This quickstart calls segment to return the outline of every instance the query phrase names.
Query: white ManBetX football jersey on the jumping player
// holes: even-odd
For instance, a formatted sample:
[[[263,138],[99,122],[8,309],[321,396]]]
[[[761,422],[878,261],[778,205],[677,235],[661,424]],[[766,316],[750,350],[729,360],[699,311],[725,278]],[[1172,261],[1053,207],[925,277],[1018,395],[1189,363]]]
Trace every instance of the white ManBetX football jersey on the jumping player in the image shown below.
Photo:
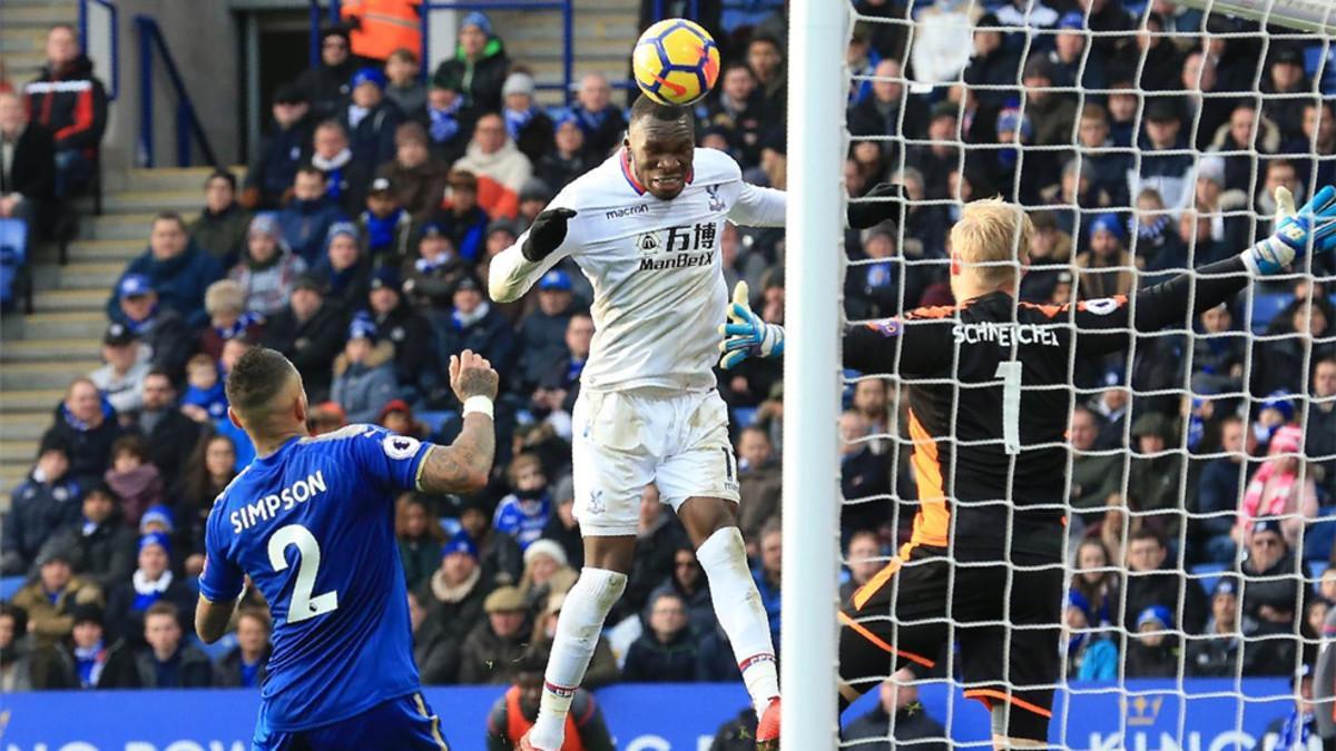
[[[784,192],[744,183],[731,156],[697,148],[687,187],[660,200],[636,180],[623,150],[557,194],[548,208],[557,207],[576,211],[565,241],[530,263],[520,253],[529,234],[521,235],[492,262],[492,297],[522,295],[569,255],[593,285],[595,334],[582,389],[713,388],[729,299],[724,222],[782,226]]]

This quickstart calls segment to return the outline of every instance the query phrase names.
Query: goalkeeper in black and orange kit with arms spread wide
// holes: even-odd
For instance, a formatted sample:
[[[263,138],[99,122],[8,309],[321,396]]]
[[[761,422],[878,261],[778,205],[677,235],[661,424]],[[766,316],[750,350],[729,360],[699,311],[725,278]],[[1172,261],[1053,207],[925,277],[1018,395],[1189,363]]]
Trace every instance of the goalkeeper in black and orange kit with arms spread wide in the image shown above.
[[[1102,357],[1128,347],[1132,330],[1188,327],[1189,315],[1280,273],[1309,247],[1336,249],[1336,188],[1323,188],[1297,214],[1288,190],[1276,198],[1276,234],[1238,257],[1134,299],[1074,306],[1018,302],[1030,219],[997,199],[969,203],[951,227],[958,303],[846,330],[846,367],[906,380],[921,505],[910,541],[840,613],[843,703],[907,664],[934,667],[954,625],[965,695],[991,711],[994,746],[1047,746],[1059,669],[1071,349],[1075,359]],[[743,285],[728,318],[720,366],[783,351],[783,327],[747,307]]]

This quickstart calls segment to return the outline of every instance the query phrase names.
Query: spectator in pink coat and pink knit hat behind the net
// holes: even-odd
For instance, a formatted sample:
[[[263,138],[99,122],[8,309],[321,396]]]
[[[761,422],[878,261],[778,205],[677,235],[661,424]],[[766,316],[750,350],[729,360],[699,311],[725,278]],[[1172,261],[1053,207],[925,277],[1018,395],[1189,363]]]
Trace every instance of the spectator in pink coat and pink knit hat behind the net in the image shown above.
[[[1304,433],[1296,425],[1276,430],[1267,448],[1267,461],[1253,474],[1238,504],[1234,540],[1241,541],[1253,520],[1279,517],[1285,543],[1299,543],[1304,520],[1317,516],[1317,482],[1312,470],[1304,470],[1301,458]],[[1283,456],[1284,454],[1284,456]]]

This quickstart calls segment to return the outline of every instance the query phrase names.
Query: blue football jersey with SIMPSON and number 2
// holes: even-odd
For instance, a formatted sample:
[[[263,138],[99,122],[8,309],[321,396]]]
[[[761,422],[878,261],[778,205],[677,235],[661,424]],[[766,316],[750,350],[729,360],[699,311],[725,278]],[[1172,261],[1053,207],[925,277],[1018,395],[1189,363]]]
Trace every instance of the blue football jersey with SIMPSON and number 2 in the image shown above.
[[[415,489],[429,449],[374,425],[293,438],[214,502],[199,591],[235,599],[250,575],[269,601],[270,728],[329,724],[418,688],[394,500]]]

